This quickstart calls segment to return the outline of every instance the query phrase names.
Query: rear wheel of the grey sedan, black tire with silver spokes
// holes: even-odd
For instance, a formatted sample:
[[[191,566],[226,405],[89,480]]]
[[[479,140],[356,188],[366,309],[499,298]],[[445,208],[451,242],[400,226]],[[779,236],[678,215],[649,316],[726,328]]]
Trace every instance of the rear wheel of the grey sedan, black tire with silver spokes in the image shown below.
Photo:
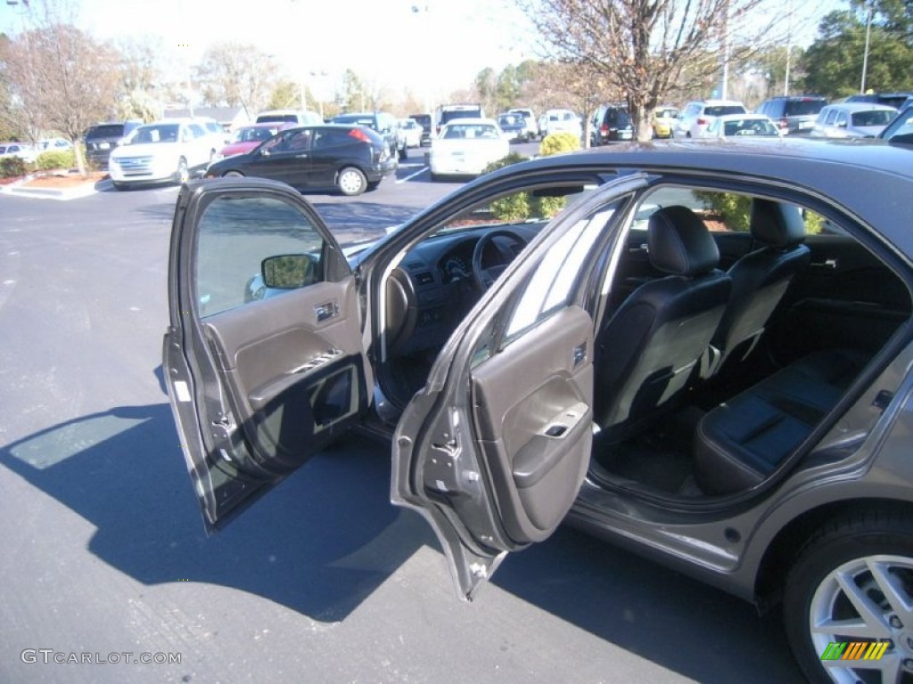
[[[838,518],[813,534],[797,557],[786,581],[783,621],[805,676],[852,684],[873,676],[913,680],[913,617],[902,612],[903,604],[913,604],[913,515],[870,510]],[[845,634],[828,626],[836,620],[862,626]],[[886,640],[881,658],[863,658],[867,646],[862,659],[823,658],[831,643],[846,643],[852,653],[850,643]]]

